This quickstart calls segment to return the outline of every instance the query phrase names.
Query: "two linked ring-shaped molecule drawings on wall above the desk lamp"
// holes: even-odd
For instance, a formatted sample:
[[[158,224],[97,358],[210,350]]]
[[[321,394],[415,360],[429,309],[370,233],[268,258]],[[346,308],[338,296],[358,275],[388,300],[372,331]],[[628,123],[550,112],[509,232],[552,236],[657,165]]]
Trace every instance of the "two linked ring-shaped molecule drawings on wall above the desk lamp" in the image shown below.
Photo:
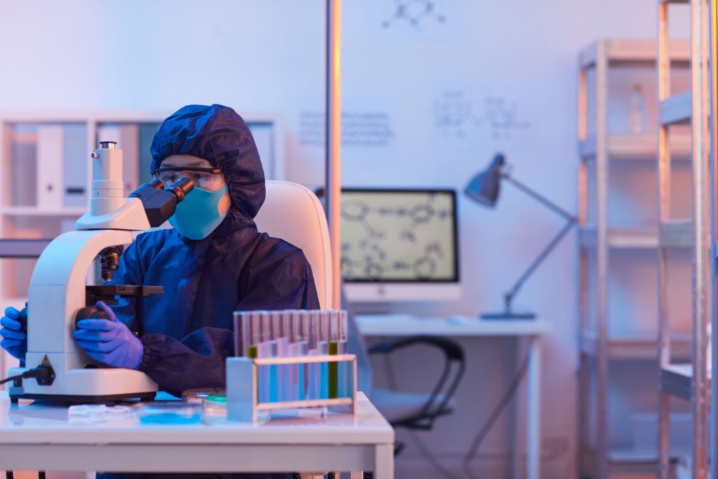
[[[515,100],[488,96],[483,100],[483,108],[477,108],[476,103],[464,90],[443,90],[434,101],[434,126],[444,138],[462,139],[483,129],[492,139],[500,140],[510,140],[516,132],[531,127],[530,122],[519,116]]]

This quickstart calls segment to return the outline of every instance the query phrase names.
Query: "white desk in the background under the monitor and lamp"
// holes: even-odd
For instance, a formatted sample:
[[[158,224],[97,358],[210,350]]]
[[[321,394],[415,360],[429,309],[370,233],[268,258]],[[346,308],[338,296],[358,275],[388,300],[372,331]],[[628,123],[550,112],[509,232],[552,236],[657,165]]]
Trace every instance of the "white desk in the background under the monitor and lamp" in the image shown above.
[[[528,338],[526,401],[526,478],[541,476],[541,336],[551,332],[546,320],[477,320],[470,317],[417,317],[414,315],[357,315],[355,321],[365,337],[432,335],[447,337]],[[514,476],[521,457],[514,449]]]

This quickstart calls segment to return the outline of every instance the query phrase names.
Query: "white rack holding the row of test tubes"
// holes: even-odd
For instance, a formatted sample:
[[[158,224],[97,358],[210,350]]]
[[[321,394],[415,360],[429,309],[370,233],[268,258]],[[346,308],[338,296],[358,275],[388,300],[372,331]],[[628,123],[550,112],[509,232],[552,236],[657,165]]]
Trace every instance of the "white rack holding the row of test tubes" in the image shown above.
[[[257,422],[259,411],[279,409],[342,407],[342,410],[355,414],[357,396],[357,359],[353,354],[295,356],[280,358],[227,358],[227,419],[239,422]],[[324,399],[297,399],[292,401],[260,401],[260,367],[288,366],[304,364],[331,363],[348,365],[344,371],[351,381],[347,381],[348,394],[342,397]],[[269,385],[266,385],[269,386]],[[298,388],[304,385],[294,385]],[[343,409],[349,406],[348,409]]]

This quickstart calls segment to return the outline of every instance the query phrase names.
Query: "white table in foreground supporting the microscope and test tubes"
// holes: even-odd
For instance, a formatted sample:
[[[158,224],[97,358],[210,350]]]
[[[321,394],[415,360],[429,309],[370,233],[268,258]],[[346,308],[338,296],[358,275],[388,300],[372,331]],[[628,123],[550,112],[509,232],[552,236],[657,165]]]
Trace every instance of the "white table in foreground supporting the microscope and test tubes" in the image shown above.
[[[281,472],[372,470],[393,478],[394,432],[363,393],[357,414],[266,424],[95,424],[67,408],[17,406],[0,417],[0,470]],[[4,424],[3,424],[4,423]],[[362,473],[352,473],[361,478]]]

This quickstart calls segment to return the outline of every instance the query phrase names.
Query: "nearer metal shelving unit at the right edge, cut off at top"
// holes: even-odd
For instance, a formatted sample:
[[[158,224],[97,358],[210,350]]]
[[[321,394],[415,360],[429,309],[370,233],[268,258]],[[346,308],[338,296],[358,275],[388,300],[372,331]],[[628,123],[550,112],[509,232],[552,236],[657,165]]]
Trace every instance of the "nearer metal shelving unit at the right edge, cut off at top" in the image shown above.
[[[668,6],[690,4],[691,89],[671,96],[668,49]],[[670,457],[670,398],[691,402],[692,477],[708,477],[709,375],[707,370],[709,324],[709,137],[707,0],[658,1],[658,360],[661,366],[658,392],[658,478],[673,477]],[[675,125],[691,127],[691,218],[672,220],[671,145]],[[691,363],[671,363],[672,341],[668,320],[668,248],[678,239],[691,247]]]

